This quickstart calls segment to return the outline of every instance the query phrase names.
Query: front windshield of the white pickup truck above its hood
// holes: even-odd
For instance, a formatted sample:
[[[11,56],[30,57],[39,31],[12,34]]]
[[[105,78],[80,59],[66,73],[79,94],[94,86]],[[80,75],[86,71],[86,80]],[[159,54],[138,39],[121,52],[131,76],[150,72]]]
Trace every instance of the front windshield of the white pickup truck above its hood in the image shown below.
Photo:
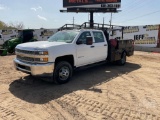
[[[48,41],[71,43],[78,33],[78,31],[60,31],[51,36]]]

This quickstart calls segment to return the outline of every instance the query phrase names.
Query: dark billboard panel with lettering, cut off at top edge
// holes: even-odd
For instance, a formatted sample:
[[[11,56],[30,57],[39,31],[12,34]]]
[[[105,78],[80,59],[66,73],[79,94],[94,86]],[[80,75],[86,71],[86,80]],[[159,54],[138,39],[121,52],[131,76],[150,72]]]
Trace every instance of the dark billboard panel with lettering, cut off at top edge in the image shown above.
[[[111,7],[117,8],[121,0],[63,0],[63,7]],[[99,6],[100,5],[100,6]],[[119,6],[120,7],[120,6]]]

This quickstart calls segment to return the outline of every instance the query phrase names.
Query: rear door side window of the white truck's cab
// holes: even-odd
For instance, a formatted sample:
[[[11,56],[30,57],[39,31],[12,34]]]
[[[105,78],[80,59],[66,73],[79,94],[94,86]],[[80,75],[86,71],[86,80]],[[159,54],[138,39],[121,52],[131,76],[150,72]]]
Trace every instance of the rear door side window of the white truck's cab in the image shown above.
[[[94,31],[93,35],[94,35],[95,43],[104,42],[104,36],[102,32]]]

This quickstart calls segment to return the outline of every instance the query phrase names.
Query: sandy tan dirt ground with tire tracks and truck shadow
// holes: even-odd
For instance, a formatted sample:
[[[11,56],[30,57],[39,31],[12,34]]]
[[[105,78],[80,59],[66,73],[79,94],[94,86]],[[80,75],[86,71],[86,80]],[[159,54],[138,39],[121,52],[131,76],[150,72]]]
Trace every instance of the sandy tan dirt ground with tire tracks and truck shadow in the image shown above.
[[[160,54],[135,52],[125,66],[75,71],[55,85],[0,57],[0,120],[160,120]]]

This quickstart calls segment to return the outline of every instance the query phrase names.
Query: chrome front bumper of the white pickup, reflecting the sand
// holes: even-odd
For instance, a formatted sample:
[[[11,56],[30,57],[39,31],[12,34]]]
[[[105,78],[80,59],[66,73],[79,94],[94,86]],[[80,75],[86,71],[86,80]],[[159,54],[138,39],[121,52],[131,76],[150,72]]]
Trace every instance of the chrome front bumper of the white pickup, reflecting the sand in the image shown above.
[[[17,70],[20,70],[25,73],[30,73],[33,76],[52,77],[54,71],[54,63],[33,64],[24,63],[17,59],[14,59],[14,66]]]

